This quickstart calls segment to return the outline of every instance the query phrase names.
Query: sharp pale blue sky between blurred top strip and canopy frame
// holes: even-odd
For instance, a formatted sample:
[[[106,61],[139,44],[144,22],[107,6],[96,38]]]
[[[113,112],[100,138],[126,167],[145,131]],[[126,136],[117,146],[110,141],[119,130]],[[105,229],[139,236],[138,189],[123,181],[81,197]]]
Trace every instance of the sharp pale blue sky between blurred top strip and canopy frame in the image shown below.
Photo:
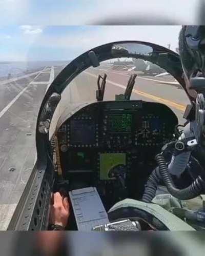
[[[175,50],[181,26],[31,26],[0,29],[0,61],[67,61],[93,47],[122,40]]]

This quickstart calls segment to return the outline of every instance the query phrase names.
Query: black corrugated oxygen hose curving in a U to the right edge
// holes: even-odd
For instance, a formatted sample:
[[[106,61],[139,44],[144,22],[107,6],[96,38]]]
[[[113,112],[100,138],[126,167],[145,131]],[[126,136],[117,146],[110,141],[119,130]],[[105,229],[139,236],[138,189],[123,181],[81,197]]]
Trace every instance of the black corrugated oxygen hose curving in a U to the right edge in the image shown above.
[[[178,189],[174,185],[163,155],[157,154],[155,158],[159,166],[160,176],[171,195],[180,200],[188,200],[200,195],[202,189],[205,187],[205,182],[202,180],[201,176],[198,176],[189,187]]]

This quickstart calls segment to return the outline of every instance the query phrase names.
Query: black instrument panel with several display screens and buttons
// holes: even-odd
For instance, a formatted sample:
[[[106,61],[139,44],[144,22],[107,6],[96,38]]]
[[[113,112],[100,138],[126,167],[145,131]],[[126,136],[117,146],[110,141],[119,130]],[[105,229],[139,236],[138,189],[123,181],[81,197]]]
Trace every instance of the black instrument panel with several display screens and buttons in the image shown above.
[[[166,105],[144,101],[92,103],[66,120],[57,132],[64,175],[109,167],[131,168],[132,157],[151,157],[173,139],[178,119]],[[153,153],[152,153],[153,152]],[[103,178],[102,178],[103,177]]]

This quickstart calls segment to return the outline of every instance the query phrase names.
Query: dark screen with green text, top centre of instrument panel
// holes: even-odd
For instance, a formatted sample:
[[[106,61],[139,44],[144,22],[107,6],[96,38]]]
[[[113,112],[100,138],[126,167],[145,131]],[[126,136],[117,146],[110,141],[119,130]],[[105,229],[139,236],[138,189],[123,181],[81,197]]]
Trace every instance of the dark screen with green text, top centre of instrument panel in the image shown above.
[[[111,114],[108,119],[109,132],[131,132],[132,114]]]

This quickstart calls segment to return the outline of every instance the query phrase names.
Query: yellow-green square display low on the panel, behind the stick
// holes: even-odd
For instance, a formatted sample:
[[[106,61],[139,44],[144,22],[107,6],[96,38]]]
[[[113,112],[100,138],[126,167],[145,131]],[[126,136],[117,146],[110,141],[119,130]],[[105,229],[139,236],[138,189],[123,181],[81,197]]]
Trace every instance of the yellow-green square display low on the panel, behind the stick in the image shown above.
[[[109,171],[116,165],[126,165],[126,154],[125,153],[101,153],[99,160],[100,160],[100,180],[113,180],[113,178],[109,178]]]

